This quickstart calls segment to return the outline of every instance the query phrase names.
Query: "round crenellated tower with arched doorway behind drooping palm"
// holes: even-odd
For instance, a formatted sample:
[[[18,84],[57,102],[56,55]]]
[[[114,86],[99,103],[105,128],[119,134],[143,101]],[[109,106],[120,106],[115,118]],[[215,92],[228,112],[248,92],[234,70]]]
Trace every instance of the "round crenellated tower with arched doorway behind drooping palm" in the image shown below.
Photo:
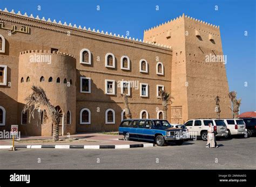
[[[59,134],[76,133],[76,58],[50,51],[25,51],[19,55],[18,121],[22,135],[52,135],[51,116],[46,106],[29,120],[29,111],[22,113],[25,98],[35,85],[44,89],[50,103],[62,114]],[[39,117],[39,115],[41,115]]]

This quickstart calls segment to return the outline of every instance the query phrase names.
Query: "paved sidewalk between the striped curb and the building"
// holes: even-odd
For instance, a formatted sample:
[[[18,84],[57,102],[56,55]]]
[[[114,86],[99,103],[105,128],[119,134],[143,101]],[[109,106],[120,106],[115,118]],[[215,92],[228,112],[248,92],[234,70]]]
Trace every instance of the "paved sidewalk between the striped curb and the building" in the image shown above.
[[[52,136],[22,136],[20,140],[15,140],[15,146],[28,145],[84,145],[84,146],[104,146],[104,145],[137,145],[139,143],[152,144],[139,141],[124,141],[123,135],[109,135],[101,133],[78,133],[59,136],[58,142],[51,142]],[[71,140],[71,141],[69,141]],[[0,139],[0,146],[12,145],[12,139]]]

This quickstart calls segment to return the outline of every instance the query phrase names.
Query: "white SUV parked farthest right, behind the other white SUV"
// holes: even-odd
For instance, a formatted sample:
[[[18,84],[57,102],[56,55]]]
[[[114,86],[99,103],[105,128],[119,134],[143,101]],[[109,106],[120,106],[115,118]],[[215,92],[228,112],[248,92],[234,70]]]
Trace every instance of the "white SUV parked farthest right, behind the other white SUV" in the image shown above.
[[[231,138],[232,135],[246,134],[245,122],[242,119],[223,119],[227,126],[227,135],[225,138]]]

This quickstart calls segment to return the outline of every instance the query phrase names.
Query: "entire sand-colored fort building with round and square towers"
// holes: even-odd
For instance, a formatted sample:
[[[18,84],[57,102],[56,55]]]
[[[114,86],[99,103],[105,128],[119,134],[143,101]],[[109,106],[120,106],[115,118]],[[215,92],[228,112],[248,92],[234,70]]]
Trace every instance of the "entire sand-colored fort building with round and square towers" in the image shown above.
[[[216,117],[217,95],[221,117],[232,117],[225,64],[205,61],[223,55],[220,30],[204,21],[183,15],[145,30],[142,41],[5,9],[0,38],[0,131],[18,124],[22,135],[52,135],[45,110],[39,123],[22,114],[32,85],[63,113],[60,134],[117,131],[123,89],[133,118],[163,116],[159,89],[174,97],[171,123]]]

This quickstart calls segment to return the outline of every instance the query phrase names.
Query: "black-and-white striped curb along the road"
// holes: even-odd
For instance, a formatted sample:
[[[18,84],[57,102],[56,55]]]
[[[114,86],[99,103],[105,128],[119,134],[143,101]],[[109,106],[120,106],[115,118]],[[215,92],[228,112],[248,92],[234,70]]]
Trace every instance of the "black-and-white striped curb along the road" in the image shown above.
[[[42,149],[42,148],[53,148],[53,149],[126,149],[126,148],[137,148],[137,147],[153,147],[153,143],[146,144],[131,144],[131,145],[99,145],[99,146],[84,146],[84,145],[28,145],[28,146],[15,146],[15,148],[25,149]],[[0,146],[0,149],[11,149],[12,146]]]

